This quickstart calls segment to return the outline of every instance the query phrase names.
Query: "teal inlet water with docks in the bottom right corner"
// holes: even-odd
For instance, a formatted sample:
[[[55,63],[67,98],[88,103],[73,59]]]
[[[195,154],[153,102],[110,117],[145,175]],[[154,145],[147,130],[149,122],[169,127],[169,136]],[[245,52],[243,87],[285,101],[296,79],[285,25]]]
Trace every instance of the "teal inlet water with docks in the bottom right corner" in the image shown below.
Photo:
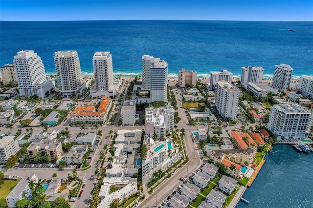
[[[298,153],[290,145],[275,145],[236,208],[312,208],[313,153]]]

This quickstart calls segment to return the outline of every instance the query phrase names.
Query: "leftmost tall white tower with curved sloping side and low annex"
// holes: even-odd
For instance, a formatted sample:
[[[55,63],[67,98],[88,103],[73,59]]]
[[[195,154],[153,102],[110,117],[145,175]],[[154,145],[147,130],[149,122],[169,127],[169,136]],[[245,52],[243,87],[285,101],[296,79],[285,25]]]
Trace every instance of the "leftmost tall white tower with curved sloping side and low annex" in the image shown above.
[[[32,50],[20,51],[14,56],[14,65],[19,83],[20,95],[37,95],[45,98],[54,88],[54,80],[47,80],[41,58]]]

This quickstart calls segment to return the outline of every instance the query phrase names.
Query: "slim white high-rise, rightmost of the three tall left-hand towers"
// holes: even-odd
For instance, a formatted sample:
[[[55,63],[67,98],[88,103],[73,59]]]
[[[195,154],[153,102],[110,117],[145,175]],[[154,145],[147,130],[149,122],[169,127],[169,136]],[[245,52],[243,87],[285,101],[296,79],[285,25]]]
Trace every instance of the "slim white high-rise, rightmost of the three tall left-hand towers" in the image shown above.
[[[92,58],[95,90],[108,91],[113,85],[113,64],[110,52],[95,52]]]

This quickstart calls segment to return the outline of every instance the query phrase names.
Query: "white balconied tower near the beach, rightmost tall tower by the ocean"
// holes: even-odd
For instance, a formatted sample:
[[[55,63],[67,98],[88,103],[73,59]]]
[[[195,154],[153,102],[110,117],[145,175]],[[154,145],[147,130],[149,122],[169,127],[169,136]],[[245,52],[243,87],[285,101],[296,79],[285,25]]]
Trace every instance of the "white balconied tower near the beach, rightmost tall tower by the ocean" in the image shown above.
[[[279,91],[288,90],[290,86],[292,70],[293,69],[290,67],[290,65],[285,63],[275,65],[272,86],[276,87]]]

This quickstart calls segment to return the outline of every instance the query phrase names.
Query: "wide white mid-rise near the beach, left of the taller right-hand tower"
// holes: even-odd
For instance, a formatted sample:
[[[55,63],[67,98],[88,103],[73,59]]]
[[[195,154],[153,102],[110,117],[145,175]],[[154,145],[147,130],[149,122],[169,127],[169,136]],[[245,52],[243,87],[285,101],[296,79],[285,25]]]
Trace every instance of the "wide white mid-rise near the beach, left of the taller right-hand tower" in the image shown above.
[[[241,67],[241,84],[261,83],[264,69],[260,66]]]

